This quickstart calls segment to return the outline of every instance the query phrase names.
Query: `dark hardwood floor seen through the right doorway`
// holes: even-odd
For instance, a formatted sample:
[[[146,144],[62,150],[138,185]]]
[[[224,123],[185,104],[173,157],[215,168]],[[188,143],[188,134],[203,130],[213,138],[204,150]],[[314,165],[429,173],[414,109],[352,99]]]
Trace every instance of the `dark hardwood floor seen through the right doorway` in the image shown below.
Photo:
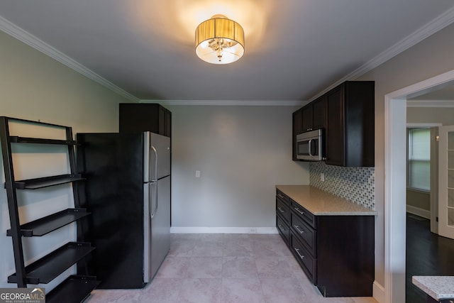
[[[406,303],[426,303],[414,275],[454,275],[454,240],[431,233],[428,219],[406,214]]]

